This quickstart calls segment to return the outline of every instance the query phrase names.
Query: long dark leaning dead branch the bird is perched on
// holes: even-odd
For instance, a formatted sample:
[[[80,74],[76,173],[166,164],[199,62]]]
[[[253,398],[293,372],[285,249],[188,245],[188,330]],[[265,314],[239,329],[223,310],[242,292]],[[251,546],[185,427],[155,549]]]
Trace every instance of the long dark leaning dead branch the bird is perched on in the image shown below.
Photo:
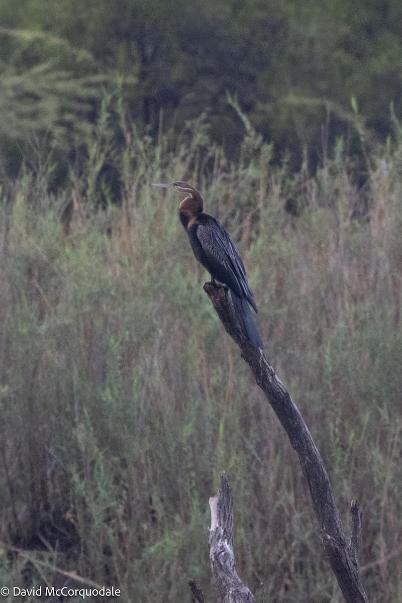
[[[250,341],[243,335],[225,288],[216,283],[205,283],[204,291],[212,301],[225,330],[240,347],[242,358],[250,366],[257,384],[268,398],[298,454],[301,470],[309,484],[315,514],[321,526],[324,550],[345,600],[347,603],[368,603],[357,567],[362,533],[362,512],[359,505],[352,504],[352,538],[348,548],[324,463],[299,409],[262,350],[251,346]]]

